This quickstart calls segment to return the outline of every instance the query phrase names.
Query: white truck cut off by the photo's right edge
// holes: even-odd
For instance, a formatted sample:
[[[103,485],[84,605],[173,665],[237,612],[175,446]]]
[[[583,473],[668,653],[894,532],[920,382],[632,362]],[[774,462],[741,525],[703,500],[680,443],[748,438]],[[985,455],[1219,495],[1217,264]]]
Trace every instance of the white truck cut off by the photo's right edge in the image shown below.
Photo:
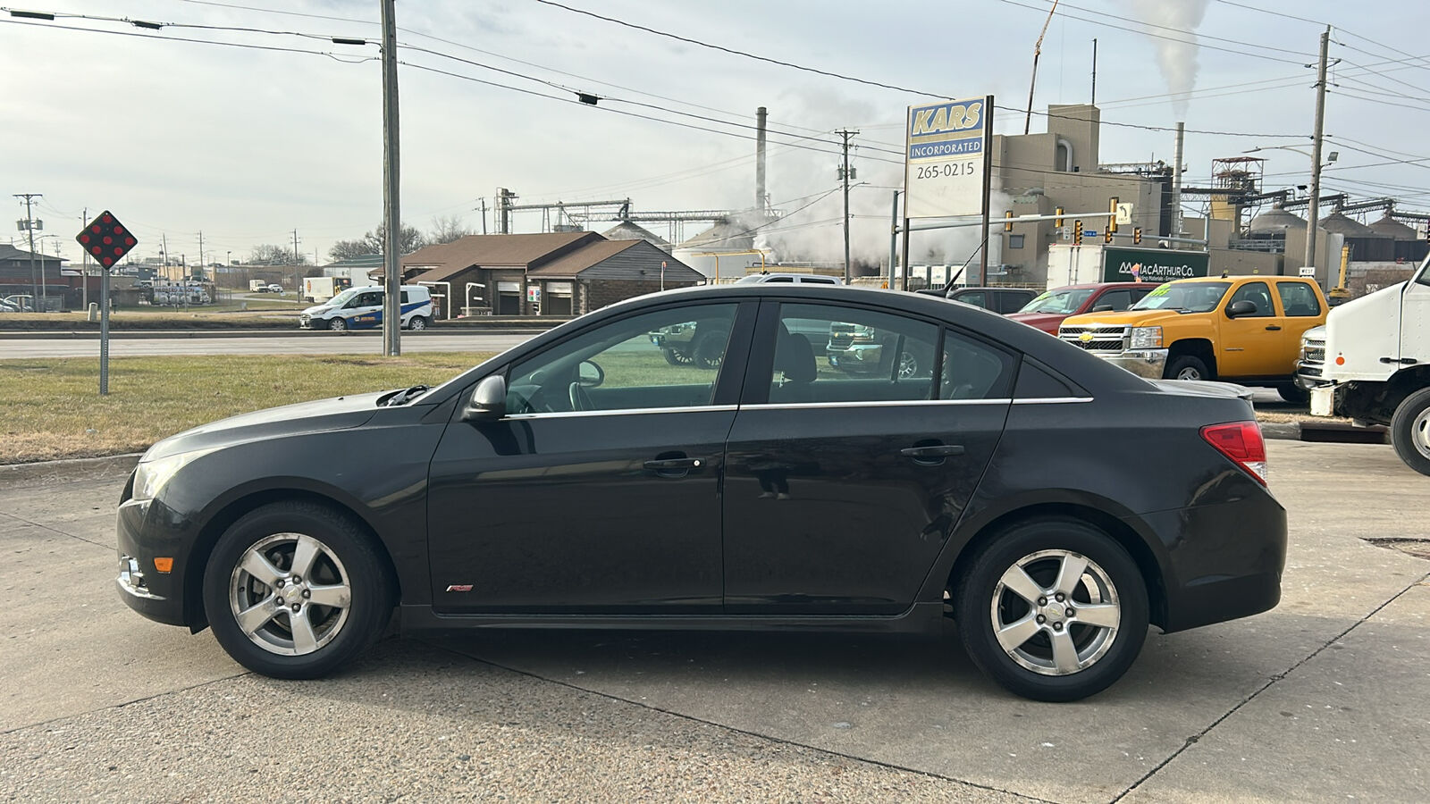
[[[1396,454],[1430,475],[1430,259],[1409,282],[1334,308],[1301,336],[1296,382],[1311,415],[1389,425]]]

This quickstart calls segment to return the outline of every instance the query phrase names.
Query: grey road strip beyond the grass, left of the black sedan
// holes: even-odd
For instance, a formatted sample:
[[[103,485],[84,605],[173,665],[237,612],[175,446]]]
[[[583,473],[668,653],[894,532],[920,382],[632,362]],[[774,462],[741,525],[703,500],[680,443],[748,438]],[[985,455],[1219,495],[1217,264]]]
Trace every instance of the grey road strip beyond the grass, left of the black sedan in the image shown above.
[[[503,352],[536,335],[422,333],[402,336],[403,352]],[[143,355],[380,355],[378,332],[323,332],[315,335],[112,338],[112,358]],[[6,338],[0,359],[97,358],[94,338]]]

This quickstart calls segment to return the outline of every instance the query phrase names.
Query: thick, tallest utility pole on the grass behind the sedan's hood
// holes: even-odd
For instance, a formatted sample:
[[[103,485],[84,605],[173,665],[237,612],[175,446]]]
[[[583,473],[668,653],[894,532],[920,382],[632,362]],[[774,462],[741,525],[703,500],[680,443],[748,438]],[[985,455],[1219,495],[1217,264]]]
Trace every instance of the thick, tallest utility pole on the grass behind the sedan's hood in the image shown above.
[[[383,285],[386,298],[382,305],[383,355],[396,358],[402,353],[402,268],[399,265],[399,243],[402,240],[402,182],[398,149],[398,11],[393,0],[382,0],[382,213],[388,223],[388,237],[382,246]]]

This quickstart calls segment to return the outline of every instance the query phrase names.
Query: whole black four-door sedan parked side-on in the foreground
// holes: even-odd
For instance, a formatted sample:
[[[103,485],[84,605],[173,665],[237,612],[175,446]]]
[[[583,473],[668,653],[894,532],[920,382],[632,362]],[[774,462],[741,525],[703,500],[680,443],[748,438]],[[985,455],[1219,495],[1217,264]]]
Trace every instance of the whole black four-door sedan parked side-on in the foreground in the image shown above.
[[[671,365],[649,333],[719,333]],[[855,332],[861,371],[808,332]],[[312,678],[403,631],[922,631],[1067,701],[1280,599],[1286,511],[1230,386],[994,313],[748,285],[601,309],[436,388],[235,416],[143,456],[119,589]]]

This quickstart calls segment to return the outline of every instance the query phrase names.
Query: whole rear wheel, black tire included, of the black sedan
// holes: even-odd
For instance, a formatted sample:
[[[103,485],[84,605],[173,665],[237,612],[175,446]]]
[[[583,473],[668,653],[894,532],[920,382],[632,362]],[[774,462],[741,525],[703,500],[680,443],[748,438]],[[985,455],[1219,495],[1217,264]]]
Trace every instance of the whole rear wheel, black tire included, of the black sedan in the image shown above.
[[[1025,599],[1002,584],[1004,575],[1025,564],[1028,569],[1022,575],[1040,588],[1035,594],[1042,594],[1044,588],[1055,585],[1064,559],[1090,561],[1087,571],[1077,577],[1072,594],[1064,602],[1054,599],[1055,595],[1040,598],[1051,608],[1040,608],[1031,601],[1020,611],[1017,604]],[[1085,582],[1090,577],[1091,585]],[[1111,588],[1111,595],[1105,587]],[[1094,592],[1098,599],[1093,599]],[[1147,638],[1147,584],[1141,571],[1123,545],[1080,519],[1030,519],[1000,532],[974,557],[957,581],[952,598],[960,638],[978,670],[1010,692],[1035,701],[1077,701],[1101,692],[1127,672]],[[1110,628],[1080,621],[1080,617],[1091,617],[1098,602],[1117,604],[1118,617]],[[1071,607],[1064,609],[1068,604]],[[1080,614],[1065,617],[1065,611]],[[1045,614],[1042,621],[1035,619],[1040,612]],[[1014,648],[1005,649],[995,631],[995,618],[1010,625],[1032,619],[1025,625],[1031,631]],[[1071,667],[1054,667],[1055,634],[1065,637],[1065,644],[1075,651]]]

